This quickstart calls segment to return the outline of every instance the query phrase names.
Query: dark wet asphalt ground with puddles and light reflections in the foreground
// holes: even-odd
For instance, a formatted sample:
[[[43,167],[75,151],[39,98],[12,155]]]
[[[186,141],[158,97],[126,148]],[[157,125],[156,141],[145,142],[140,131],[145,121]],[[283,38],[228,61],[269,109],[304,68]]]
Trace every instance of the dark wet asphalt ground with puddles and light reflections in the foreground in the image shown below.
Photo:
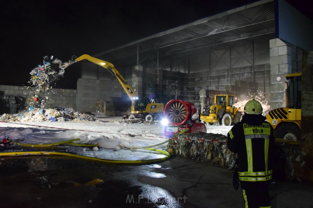
[[[0,158],[0,207],[244,207],[233,172],[181,157],[112,165],[64,157]],[[313,207],[313,185],[273,180],[272,207]]]

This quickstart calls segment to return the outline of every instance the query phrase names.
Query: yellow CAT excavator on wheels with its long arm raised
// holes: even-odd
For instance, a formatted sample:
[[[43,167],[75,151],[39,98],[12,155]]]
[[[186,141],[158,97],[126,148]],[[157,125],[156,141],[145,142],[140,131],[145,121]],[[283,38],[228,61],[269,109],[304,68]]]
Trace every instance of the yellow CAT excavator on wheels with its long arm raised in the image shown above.
[[[90,62],[93,62],[109,70],[112,75],[115,75],[128,95],[129,99],[131,99],[131,114],[127,115],[126,118],[128,117],[129,120],[140,118],[145,119],[147,122],[151,122],[158,119],[159,116],[163,115],[164,104],[156,103],[154,99],[138,97],[136,92],[126,82],[115,66],[110,62],[84,54],[78,58],[73,56],[72,60],[69,60],[68,65],[65,66],[65,68],[81,60],[89,60]]]

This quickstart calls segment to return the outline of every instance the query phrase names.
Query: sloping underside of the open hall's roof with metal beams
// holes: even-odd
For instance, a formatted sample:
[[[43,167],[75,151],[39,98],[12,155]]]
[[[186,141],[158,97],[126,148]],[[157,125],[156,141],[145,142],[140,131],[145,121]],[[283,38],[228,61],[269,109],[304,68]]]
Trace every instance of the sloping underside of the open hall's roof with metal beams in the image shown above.
[[[262,0],[104,51],[120,67],[275,37],[274,0]],[[137,56],[138,54],[138,56]]]

